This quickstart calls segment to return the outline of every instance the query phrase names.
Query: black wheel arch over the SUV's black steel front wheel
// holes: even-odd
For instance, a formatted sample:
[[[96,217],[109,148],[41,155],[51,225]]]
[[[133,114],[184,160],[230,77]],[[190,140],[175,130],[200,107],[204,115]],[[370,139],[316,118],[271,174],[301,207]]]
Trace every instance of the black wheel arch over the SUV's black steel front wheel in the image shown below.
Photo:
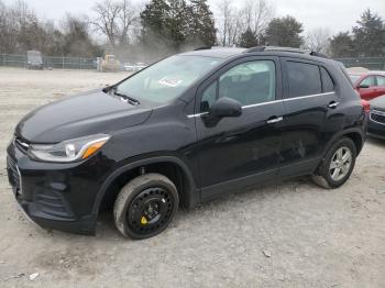
[[[144,168],[145,171],[160,173],[170,178],[178,188],[179,202],[183,208],[190,209],[200,201],[200,193],[196,189],[194,177],[187,165],[176,156],[156,156],[123,165],[111,173],[97,192],[92,214],[97,217],[102,208],[103,201],[107,200],[106,198],[113,197],[112,195],[110,196],[109,192],[113,190],[114,186],[119,185],[117,181],[122,178],[127,178],[127,181],[131,180],[140,175],[141,168]],[[176,175],[170,177],[169,173],[173,168]]]

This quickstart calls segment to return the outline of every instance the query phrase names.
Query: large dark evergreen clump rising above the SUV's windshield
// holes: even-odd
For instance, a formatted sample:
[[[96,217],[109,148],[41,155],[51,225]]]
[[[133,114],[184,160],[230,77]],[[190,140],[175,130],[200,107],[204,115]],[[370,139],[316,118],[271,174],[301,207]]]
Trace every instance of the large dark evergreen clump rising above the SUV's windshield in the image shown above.
[[[152,0],[141,13],[141,44],[167,53],[185,46],[212,46],[216,27],[207,0]]]

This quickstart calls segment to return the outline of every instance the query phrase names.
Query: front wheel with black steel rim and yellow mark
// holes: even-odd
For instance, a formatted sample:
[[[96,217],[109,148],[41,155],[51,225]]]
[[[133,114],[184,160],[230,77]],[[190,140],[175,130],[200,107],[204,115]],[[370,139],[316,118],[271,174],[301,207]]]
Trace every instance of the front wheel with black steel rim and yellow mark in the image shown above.
[[[117,229],[134,240],[155,236],[172,222],[179,203],[175,185],[161,174],[132,179],[118,195],[113,206]]]

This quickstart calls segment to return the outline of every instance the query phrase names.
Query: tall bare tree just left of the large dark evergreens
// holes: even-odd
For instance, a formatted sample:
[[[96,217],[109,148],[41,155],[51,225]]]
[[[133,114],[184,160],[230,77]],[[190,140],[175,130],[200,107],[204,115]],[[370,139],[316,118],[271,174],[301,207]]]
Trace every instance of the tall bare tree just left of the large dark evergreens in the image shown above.
[[[97,18],[91,21],[96,29],[105,34],[111,46],[129,44],[130,30],[139,19],[139,9],[129,0],[98,2],[94,11]]]

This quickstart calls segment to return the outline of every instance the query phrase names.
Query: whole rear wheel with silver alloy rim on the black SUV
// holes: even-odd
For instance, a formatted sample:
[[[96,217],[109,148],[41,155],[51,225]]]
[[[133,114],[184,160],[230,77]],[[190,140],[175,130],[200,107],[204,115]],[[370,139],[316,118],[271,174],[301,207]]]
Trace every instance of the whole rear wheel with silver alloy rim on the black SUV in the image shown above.
[[[353,171],[355,158],[356,148],[351,139],[337,141],[312,176],[314,181],[324,188],[342,186]]]

